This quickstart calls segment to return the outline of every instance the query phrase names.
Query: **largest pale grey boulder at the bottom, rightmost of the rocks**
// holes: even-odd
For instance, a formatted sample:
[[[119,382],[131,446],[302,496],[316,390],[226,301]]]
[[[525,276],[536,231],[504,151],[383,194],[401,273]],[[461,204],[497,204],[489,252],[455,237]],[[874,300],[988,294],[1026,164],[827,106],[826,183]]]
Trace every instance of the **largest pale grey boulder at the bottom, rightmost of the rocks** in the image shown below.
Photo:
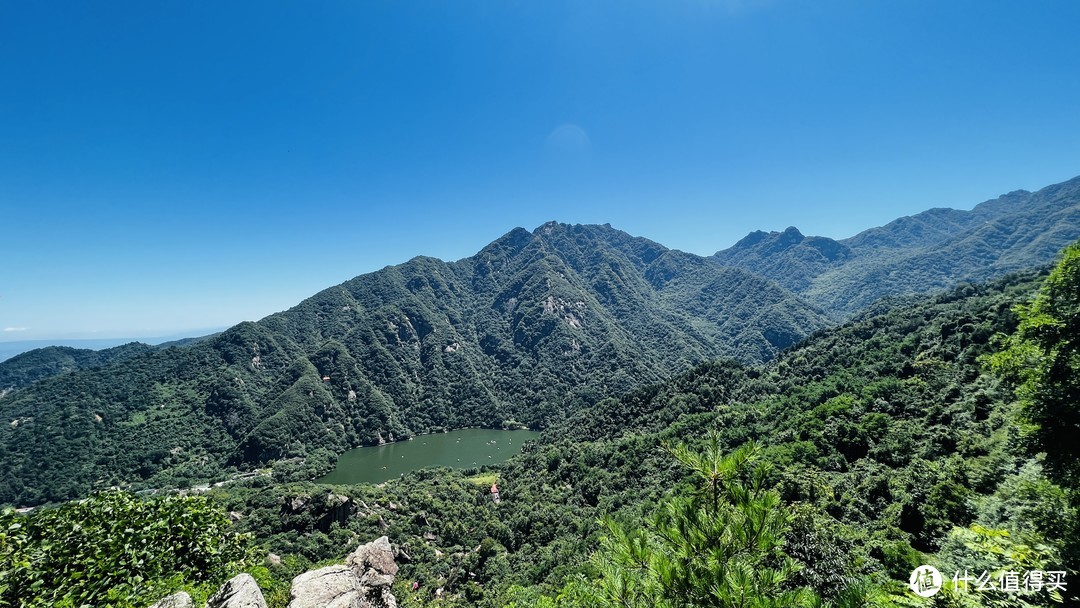
[[[327,566],[293,579],[288,608],[397,608],[390,592],[397,573],[390,539],[381,537]]]

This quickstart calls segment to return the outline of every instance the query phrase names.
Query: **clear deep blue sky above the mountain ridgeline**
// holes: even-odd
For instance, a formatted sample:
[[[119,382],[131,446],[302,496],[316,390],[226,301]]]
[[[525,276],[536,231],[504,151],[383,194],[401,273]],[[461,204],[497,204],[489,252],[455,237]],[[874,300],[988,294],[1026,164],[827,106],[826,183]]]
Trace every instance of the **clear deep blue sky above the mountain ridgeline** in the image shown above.
[[[515,226],[711,254],[1080,174],[1080,3],[0,4],[0,340],[219,327]]]

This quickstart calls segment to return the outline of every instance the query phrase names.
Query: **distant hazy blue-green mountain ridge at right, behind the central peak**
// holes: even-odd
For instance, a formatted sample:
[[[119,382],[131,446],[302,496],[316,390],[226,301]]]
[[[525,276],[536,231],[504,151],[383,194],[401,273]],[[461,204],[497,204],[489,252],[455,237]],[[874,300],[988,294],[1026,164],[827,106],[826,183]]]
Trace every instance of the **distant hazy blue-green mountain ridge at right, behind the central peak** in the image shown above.
[[[800,294],[834,319],[891,295],[1049,264],[1080,238],[1080,177],[971,211],[933,208],[835,241],[796,228],[752,232],[713,258]]]

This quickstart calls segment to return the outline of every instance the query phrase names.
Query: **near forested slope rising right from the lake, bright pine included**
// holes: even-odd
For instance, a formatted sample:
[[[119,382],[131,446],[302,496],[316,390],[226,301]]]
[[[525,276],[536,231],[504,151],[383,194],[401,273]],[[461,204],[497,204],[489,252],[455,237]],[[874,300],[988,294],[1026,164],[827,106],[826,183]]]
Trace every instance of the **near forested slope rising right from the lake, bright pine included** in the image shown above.
[[[256,539],[273,606],[293,576],[381,535],[409,556],[402,606],[1075,603],[951,576],[1080,566],[1077,323],[1072,246],[1049,274],[881,302],[772,363],[603,398],[498,468],[208,496]],[[906,585],[921,564],[949,579],[932,600]]]

